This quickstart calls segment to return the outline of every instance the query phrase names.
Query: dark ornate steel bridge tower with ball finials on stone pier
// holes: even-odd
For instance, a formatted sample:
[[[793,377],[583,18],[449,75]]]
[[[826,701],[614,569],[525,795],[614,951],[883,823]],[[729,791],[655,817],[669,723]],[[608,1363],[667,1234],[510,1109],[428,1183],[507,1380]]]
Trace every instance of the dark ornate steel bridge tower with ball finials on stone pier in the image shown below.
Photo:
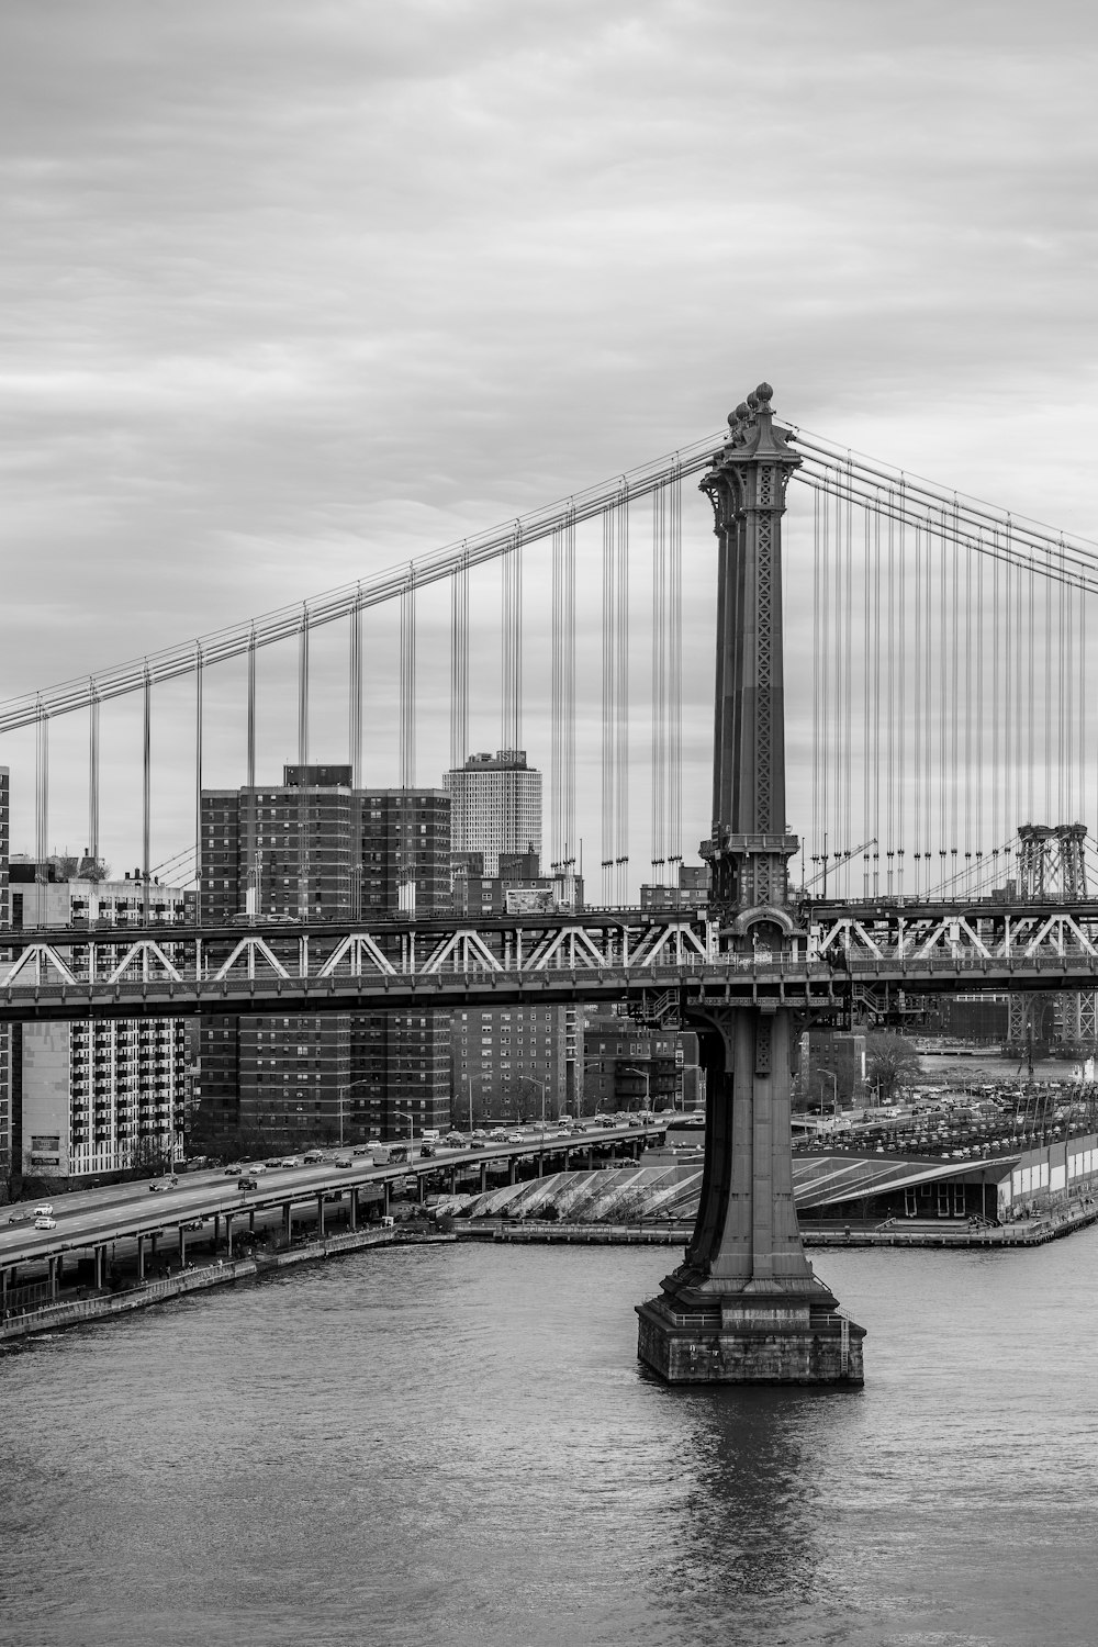
[[[805,944],[789,907],[782,516],[800,456],[774,390],[731,413],[701,481],[718,539],[713,833],[723,950],[746,965]],[[708,1074],[701,1202],[685,1262],[637,1308],[639,1355],[668,1383],[861,1383],[864,1331],[807,1262],[793,1206],[792,1011],[691,1006]]]

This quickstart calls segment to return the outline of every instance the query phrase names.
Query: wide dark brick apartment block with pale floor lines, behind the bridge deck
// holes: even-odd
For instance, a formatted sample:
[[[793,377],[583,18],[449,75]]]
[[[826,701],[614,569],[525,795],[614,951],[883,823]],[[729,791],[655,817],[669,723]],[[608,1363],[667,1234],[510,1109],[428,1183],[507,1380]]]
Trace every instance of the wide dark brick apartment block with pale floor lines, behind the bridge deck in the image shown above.
[[[369,921],[449,901],[449,799],[352,789],[349,766],[202,794],[202,917]],[[449,1021],[324,1013],[206,1018],[204,1133],[255,1148],[392,1136],[449,1115]],[[443,1038],[443,1054],[438,1038]],[[392,1113],[390,1113],[392,1112]]]

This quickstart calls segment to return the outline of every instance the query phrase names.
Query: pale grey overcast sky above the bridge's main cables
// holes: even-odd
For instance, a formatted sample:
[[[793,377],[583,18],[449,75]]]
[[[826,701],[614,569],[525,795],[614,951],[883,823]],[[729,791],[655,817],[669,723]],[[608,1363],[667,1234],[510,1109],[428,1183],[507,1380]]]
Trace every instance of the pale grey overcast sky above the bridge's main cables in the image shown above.
[[[1098,535],[1082,3],[16,0],[0,33],[3,697],[601,481],[761,377]]]

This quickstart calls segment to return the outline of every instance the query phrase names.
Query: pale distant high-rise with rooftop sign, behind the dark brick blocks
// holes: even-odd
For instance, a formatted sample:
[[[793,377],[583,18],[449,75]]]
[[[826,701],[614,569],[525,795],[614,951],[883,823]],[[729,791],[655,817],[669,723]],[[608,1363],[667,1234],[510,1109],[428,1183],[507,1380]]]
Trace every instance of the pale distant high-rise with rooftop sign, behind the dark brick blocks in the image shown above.
[[[482,875],[499,875],[500,851],[542,856],[542,774],[525,749],[471,754],[443,779],[451,799],[454,853],[484,855]]]

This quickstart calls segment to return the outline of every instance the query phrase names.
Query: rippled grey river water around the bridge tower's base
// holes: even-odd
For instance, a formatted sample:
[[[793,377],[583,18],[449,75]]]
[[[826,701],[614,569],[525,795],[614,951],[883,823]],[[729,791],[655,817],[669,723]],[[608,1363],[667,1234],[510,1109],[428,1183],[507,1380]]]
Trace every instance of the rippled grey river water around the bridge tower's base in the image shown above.
[[[663,1388],[672,1257],[382,1248],[0,1360],[0,1640],[1098,1640],[1098,1230],[820,1253],[863,1392]]]

